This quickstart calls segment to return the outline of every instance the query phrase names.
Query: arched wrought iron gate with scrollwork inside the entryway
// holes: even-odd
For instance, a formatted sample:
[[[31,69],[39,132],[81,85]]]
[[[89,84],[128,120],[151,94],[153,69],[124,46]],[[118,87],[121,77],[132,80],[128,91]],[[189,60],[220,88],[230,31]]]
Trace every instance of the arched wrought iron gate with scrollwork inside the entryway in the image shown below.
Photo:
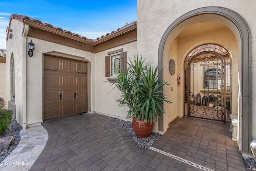
[[[229,121],[231,76],[227,50],[206,44],[192,50],[184,62],[184,116]]]

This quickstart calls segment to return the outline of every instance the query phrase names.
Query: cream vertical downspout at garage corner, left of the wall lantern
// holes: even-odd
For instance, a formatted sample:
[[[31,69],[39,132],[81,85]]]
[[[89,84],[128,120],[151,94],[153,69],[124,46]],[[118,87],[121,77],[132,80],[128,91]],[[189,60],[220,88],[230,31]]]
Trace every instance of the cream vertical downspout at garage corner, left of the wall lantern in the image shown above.
[[[27,56],[27,35],[28,25],[24,24],[22,42],[22,129],[27,129],[27,84],[26,84],[26,56]]]

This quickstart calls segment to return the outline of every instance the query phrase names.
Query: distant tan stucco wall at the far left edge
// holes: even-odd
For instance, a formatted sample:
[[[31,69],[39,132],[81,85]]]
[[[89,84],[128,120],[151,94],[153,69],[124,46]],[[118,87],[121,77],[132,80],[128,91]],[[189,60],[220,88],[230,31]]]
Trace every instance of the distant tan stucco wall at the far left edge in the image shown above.
[[[0,97],[6,100],[6,63],[0,63]]]

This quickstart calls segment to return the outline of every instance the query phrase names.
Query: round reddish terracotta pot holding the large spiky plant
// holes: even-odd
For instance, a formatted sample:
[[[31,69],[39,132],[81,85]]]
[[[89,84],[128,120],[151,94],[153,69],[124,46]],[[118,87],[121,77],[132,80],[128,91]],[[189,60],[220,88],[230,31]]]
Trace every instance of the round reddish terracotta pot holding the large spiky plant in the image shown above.
[[[135,118],[132,119],[132,127],[137,137],[140,137],[140,138],[149,137],[150,134],[152,133],[153,126],[154,126],[153,121],[152,123],[150,123],[149,120],[147,122],[140,120],[140,125],[139,125],[137,119]]]

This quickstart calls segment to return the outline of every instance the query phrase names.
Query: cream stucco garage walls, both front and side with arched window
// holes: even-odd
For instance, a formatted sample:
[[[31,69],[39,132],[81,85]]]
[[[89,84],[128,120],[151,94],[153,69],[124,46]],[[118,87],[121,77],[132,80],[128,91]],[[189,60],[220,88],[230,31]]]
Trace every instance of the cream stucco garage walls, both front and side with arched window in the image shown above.
[[[25,25],[25,34],[28,26]],[[7,66],[7,100],[10,100],[10,74],[11,56],[15,60],[15,105],[16,119],[23,129],[40,125],[43,121],[43,58],[44,54],[64,56],[66,58],[91,62],[90,93],[94,92],[94,54],[69,48],[52,42],[24,36],[22,38],[23,23],[12,19],[11,26],[13,38],[7,41],[6,66]],[[27,55],[28,42],[34,42],[34,55]],[[21,44],[23,42],[23,45]],[[24,48],[23,48],[24,47]],[[13,55],[12,55],[13,54]],[[85,59],[86,58],[86,59]],[[23,71],[23,72],[22,72]],[[91,106],[94,110],[94,97],[91,95]]]

